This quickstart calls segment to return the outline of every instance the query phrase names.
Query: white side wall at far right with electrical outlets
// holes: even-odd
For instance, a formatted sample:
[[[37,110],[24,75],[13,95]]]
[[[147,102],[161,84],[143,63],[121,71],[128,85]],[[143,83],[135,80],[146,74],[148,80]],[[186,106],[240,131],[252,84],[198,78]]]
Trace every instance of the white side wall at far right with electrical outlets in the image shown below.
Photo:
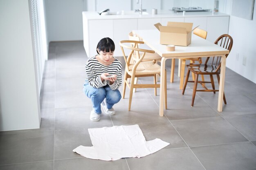
[[[241,3],[243,3],[241,1]],[[227,58],[227,67],[256,83],[256,2],[254,2],[253,20],[230,16],[229,35],[234,44]],[[242,12],[242,11],[241,11]],[[236,55],[238,54],[238,60]],[[245,65],[243,60],[245,57]]]

